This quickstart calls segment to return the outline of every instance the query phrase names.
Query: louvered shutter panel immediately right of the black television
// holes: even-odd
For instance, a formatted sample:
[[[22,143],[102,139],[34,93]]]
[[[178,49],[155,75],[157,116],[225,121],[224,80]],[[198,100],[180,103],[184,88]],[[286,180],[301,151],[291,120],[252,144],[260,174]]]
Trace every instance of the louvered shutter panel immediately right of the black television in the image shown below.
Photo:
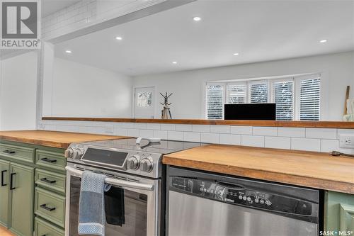
[[[276,103],[277,120],[292,120],[294,106],[294,82],[273,82],[273,102]]]

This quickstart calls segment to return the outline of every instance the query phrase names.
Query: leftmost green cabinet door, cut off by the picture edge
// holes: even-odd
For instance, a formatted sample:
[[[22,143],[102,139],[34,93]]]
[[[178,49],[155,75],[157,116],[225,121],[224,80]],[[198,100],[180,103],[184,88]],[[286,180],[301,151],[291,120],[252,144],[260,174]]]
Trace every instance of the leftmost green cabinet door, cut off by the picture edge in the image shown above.
[[[8,188],[10,184],[10,162],[0,159],[0,224],[8,226]]]

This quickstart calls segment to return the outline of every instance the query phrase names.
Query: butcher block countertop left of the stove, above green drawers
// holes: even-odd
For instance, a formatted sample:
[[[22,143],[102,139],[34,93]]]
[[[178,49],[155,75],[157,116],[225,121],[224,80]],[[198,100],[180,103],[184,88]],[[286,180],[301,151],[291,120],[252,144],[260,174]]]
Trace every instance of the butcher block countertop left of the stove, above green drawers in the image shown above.
[[[47,130],[0,131],[0,140],[30,143],[47,147],[67,148],[72,142],[117,140],[127,138],[113,135],[94,135]]]

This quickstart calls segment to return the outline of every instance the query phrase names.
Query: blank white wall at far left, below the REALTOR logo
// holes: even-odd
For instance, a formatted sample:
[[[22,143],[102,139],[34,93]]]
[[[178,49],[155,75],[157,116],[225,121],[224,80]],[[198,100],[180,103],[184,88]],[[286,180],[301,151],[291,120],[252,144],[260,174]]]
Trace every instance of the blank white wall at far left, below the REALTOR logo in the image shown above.
[[[1,60],[0,130],[35,129],[37,52]]]

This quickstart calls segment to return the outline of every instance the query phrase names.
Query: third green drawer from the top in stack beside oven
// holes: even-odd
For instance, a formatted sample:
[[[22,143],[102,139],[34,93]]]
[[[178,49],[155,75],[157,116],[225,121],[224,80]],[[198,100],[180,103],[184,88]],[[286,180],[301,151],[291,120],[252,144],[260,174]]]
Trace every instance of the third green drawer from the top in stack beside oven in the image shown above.
[[[35,188],[35,214],[60,227],[65,223],[65,198],[57,193]]]

